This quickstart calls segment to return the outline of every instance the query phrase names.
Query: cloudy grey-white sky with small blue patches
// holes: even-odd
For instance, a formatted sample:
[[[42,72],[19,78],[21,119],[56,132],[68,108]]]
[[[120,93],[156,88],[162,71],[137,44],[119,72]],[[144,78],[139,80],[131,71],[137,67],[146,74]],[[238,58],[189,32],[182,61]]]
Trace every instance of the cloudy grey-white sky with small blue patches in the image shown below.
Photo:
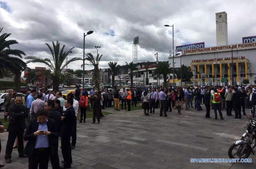
[[[0,27],[12,33],[10,39],[19,44],[27,56],[50,58],[45,43],[59,40],[66,50],[75,47],[69,57],[97,54],[94,46],[101,46],[100,67],[109,61],[125,64],[132,61],[132,41],[139,36],[138,61],[167,61],[174,46],[205,42],[216,46],[215,13],[228,13],[228,44],[242,43],[242,37],[256,35],[256,0],[0,0]],[[175,47],[174,47],[175,48]],[[30,68],[43,66],[28,64]],[[81,69],[81,62],[68,66]],[[87,66],[86,70],[92,69]]]

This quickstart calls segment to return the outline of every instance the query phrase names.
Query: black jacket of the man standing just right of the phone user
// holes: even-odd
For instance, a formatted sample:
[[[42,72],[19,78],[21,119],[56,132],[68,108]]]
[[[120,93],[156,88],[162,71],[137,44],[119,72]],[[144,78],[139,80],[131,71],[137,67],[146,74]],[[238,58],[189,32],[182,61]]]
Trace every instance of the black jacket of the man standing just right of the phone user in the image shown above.
[[[70,138],[72,136],[73,127],[75,125],[74,119],[76,118],[75,109],[73,106],[69,107],[63,112],[65,118],[60,123],[60,137]]]

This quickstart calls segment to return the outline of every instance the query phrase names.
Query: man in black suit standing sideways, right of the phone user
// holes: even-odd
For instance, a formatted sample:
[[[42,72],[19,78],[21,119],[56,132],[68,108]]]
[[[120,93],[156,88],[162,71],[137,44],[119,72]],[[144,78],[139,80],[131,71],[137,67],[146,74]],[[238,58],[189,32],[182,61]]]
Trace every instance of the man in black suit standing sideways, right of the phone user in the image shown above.
[[[64,159],[61,162],[64,164],[60,168],[70,168],[72,163],[70,137],[73,133],[75,125],[74,119],[76,117],[75,109],[73,108],[73,100],[67,98],[64,107],[66,108],[66,111],[64,111],[61,116],[60,123],[61,152]]]

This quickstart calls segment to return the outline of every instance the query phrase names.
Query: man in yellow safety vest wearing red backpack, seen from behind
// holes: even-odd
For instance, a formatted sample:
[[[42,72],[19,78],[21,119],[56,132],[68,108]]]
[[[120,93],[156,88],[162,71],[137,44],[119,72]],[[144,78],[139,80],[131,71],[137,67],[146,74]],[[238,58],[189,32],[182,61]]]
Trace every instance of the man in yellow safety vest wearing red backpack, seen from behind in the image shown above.
[[[217,89],[214,89],[213,90],[213,94],[211,95],[211,106],[212,108],[214,109],[214,114],[215,114],[215,119],[217,120],[217,109],[219,111],[219,114],[220,114],[220,119],[223,120],[223,116],[222,116],[222,112],[221,112],[221,97],[220,97],[220,93],[217,93],[218,90]]]

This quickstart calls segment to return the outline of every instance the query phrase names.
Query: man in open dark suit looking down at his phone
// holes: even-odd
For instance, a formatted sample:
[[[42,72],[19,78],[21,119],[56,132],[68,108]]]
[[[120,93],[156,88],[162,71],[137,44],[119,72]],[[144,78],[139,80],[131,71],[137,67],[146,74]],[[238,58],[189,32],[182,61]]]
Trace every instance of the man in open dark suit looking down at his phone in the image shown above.
[[[37,111],[37,118],[32,118],[28,122],[24,140],[28,141],[25,147],[25,154],[28,155],[28,169],[48,168],[48,161],[54,155],[58,133],[56,123],[52,119],[47,119],[48,113],[44,109]]]

